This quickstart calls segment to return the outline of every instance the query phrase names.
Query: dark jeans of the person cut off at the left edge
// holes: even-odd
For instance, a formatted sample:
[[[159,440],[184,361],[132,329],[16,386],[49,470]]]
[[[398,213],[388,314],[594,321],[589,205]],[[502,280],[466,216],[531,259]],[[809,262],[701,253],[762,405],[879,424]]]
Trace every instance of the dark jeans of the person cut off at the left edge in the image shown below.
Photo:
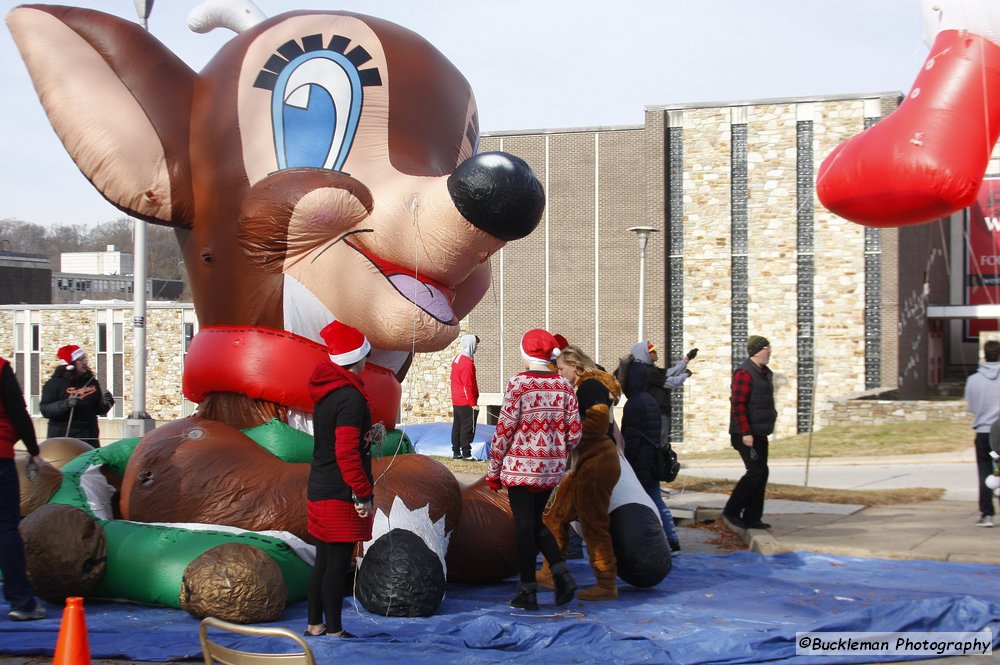
[[[35,592],[28,581],[21,522],[21,486],[12,459],[0,459],[0,573],[3,596],[11,610],[35,609]]]

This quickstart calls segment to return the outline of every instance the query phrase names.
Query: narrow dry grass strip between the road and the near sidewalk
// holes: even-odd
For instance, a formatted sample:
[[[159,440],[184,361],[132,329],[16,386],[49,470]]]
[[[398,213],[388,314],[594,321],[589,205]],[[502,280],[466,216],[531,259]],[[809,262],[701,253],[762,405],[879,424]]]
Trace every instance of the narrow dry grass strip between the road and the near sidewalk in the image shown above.
[[[736,485],[734,480],[702,478],[681,473],[670,483],[671,489],[685,492],[713,492],[729,494]],[[894,506],[898,504],[937,501],[944,496],[939,487],[901,487],[882,490],[843,490],[824,487],[804,487],[802,485],[767,484],[768,499],[788,499],[791,501],[813,501],[817,503],[852,503],[862,506]]]

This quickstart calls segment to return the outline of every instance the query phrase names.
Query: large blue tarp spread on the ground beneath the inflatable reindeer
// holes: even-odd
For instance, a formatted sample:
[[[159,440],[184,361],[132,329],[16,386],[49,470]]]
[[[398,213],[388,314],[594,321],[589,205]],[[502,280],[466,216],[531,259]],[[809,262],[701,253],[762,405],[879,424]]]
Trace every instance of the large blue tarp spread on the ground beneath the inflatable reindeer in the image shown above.
[[[513,582],[450,585],[438,613],[428,618],[372,616],[348,599],[344,625],[363,639],[313,638],[310,644],[319,662],[406,665],[816,662],[795,656],[795,633],[803,631],[989,628],[993,648],[1000,648],[997,566],[808,552],[685,553],[674,561],[670,575],[652,589],[622,585],[617,601],[574,601],[560,613],[551,592],[540,595],[543,607],[537,613],[510,609],[506,600]],[[585,562],[571,565],[582,584],[593,582]],[[0,653],[51,655],[61,608],[48,609],[50,618],[43,621],[0,621]],[[94,658],[167,661],[200,654],[198,621],[182,611],[89,601],[86,612]],[[305,623],[305,603],[297,603],[271,625],[301,631]],[[237,648],[280,644],[288,650],[273,640],[221,634],[218,640]],[[880,660],[819,659],[824,664]],[[913,657],[898,658],[907,659]]]

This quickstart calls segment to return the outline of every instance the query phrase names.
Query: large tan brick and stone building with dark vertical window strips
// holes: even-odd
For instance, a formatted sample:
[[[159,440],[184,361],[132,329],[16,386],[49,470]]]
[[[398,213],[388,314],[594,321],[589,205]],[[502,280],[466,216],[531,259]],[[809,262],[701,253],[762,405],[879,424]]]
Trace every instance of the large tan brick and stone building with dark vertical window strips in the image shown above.
[[[528,328],[562,333],[609,368],[628,352],[640,252],[627,229],[639,225],[659,230],[646,249],[644,337],[661,361],[700,348],[675,391],[675,440],[726,445],[729,379],[752,334],[774,348],[778,436],[822,426],[832,402],[865,391],[923,397],[928,353],[943,349],[926,307],[952,302],[946,261],[935,260],[947,222],[867,229],[815,195],[823,157],[900,99],[650,106],[641,126],[485,135],[482,150],[525,159],[548,196],[539,228],[493,258],[493,287],[465,322],[482,338],[485,401],[498,403],[519,371]],[[418,359],[409,381],[421,387],[404,412],[450,417],[454,352]]]

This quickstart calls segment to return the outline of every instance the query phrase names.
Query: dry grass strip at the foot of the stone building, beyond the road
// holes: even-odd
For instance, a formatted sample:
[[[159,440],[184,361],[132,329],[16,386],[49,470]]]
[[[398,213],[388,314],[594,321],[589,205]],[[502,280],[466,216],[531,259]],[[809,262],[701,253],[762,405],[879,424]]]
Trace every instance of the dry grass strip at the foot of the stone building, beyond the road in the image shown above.
[[[812,434],[812,459],[832,457],[874,457],[882,455],[915,455],[966,450],[972,446],[974,432],[969,422],[923,421],[892,425],[832,425]],[[768,457],[805,458],[809,434],[798,434],[770,442]],[[691,451],[676,448],[684,460],[736,459],[728,445],[720,450]],[[738,461],[738,459],[737,459]]]

